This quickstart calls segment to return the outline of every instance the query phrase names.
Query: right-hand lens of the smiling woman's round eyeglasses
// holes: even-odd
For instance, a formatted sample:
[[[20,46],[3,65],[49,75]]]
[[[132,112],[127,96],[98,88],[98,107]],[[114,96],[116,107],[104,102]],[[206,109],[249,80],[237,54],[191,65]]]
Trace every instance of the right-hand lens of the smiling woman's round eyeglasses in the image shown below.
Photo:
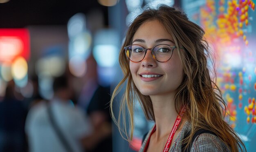
[[[159,62],[166,62],[171,59],[173,55],[173,49],[175,46],[169,46],[165,44],[157,45],[153,48],[153,54]]]

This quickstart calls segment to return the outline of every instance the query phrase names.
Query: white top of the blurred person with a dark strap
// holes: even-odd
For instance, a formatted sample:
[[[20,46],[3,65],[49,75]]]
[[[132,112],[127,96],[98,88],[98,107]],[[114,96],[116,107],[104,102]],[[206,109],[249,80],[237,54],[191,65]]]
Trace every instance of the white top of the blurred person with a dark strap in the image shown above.
[[[57,99],[52,100],[50,104],[54,120],[67,142],[70,143],[72,150],[83,152],[79,139],[86,137],[91,132],[90,123],[83,111]],[[39,103],[29,110],[25,131],[28,135],[30,152],[66,151],[49,121],[45,102]]]

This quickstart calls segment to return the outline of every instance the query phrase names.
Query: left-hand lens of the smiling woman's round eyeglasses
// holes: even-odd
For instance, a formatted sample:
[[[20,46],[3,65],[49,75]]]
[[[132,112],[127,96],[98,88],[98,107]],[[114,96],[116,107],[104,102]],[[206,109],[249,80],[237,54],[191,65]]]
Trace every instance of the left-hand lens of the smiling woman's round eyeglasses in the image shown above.
[[[127,56],[133,62],[139,62],[145,55],[145,49],[139,45],[131,45],[127,48]]]

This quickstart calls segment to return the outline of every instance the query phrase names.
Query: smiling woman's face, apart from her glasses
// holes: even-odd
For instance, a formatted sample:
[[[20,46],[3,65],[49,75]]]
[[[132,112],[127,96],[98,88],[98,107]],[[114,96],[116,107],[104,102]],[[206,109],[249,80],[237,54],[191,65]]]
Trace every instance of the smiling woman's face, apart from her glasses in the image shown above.
[[[132,44],[154,48],[158,44],[174,45],[173,37],[157,20],[147,21],[137,29]],[[157,62],[148,50],[141,62],[130,61],[132,79],[142,95],[175,94],[183,79],[183,69],[177,49],[167,62]],[[148,75],[150,75],[148,77]],[[153,77],[152,77],[153,76]]]

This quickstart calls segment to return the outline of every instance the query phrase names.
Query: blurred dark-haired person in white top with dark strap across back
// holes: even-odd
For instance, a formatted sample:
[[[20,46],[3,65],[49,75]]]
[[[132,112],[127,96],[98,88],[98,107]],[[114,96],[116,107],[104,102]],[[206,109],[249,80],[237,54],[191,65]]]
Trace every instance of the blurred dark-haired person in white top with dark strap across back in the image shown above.
[[[39,103],[29,110],[25,126],[29,150],[83,152],[84,149],[91,149],[101,135],[92,132],[83,111],[71,104],[72,89],[69,79],[65,76],[54,79],[53,90],[53,99]]]

